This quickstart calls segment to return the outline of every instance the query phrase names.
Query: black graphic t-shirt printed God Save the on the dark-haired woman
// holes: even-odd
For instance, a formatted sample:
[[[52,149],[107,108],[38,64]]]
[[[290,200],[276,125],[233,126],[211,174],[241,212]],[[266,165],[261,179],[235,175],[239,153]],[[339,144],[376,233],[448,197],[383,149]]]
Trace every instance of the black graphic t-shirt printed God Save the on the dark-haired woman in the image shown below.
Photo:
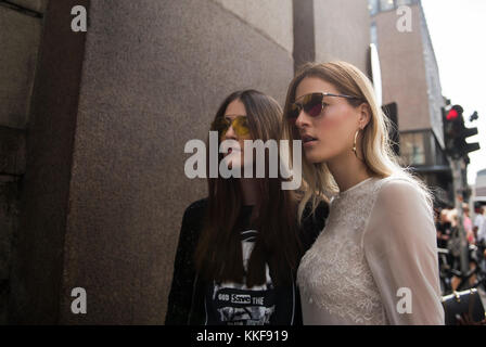
[[[247,262],[258,232],[250,227],[252,206],[243,206],[241,232],[243,265]],[[248,288],[244,283],[213,283],[206,292],[206,313],[208,325],[265,325],[276,310],[276,290],[273,287],[268,265],[267,281],[263,285]],[[245,281],[243,281],[245,282]]]

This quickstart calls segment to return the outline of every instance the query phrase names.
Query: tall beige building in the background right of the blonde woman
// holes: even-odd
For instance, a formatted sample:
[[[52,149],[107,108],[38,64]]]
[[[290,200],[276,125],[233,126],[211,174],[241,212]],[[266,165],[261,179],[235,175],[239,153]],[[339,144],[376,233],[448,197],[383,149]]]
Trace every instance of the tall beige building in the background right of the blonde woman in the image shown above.
[[[452,178],[443,130],[445,99],[421,2],[369,0],[369,9],[383,103],[397,103],[402,164],[433,189],[438,205],[451,205]]]

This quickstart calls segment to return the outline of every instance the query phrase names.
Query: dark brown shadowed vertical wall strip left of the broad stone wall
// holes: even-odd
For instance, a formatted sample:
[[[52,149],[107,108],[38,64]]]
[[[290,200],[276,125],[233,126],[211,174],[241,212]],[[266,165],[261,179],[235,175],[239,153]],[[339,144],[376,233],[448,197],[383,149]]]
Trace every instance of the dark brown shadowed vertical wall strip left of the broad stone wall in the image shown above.
[[[18,234],[12,249],[10,323],[59,322],[85,47],[84,35],[71,30],[75,4],[87,5],[87,1],[52,1],[44,16],[20,190]]]

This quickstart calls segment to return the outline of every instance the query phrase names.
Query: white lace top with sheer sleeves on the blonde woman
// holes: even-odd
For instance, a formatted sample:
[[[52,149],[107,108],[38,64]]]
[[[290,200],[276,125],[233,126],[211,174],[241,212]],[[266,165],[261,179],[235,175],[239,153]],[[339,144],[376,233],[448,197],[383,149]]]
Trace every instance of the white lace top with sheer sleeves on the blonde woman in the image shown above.
[[[421,191],[388,177],[335,195],[297,283],[304,324],[444,324],[435,226]]]

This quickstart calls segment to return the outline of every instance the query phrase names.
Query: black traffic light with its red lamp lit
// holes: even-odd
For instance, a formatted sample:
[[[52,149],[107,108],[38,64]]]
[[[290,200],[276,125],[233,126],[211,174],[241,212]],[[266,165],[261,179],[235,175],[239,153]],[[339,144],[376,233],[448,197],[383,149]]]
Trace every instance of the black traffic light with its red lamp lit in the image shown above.
[[[455,157],[463,157],[470,152],[479,150],[479,143],[465,142],[466,138],[477,134],[477,128],[464,126],[463,112],[460,105],[453,105],[448,111],[443,108],[446,152]],[[477,114],[475,116],[477,117]]]

